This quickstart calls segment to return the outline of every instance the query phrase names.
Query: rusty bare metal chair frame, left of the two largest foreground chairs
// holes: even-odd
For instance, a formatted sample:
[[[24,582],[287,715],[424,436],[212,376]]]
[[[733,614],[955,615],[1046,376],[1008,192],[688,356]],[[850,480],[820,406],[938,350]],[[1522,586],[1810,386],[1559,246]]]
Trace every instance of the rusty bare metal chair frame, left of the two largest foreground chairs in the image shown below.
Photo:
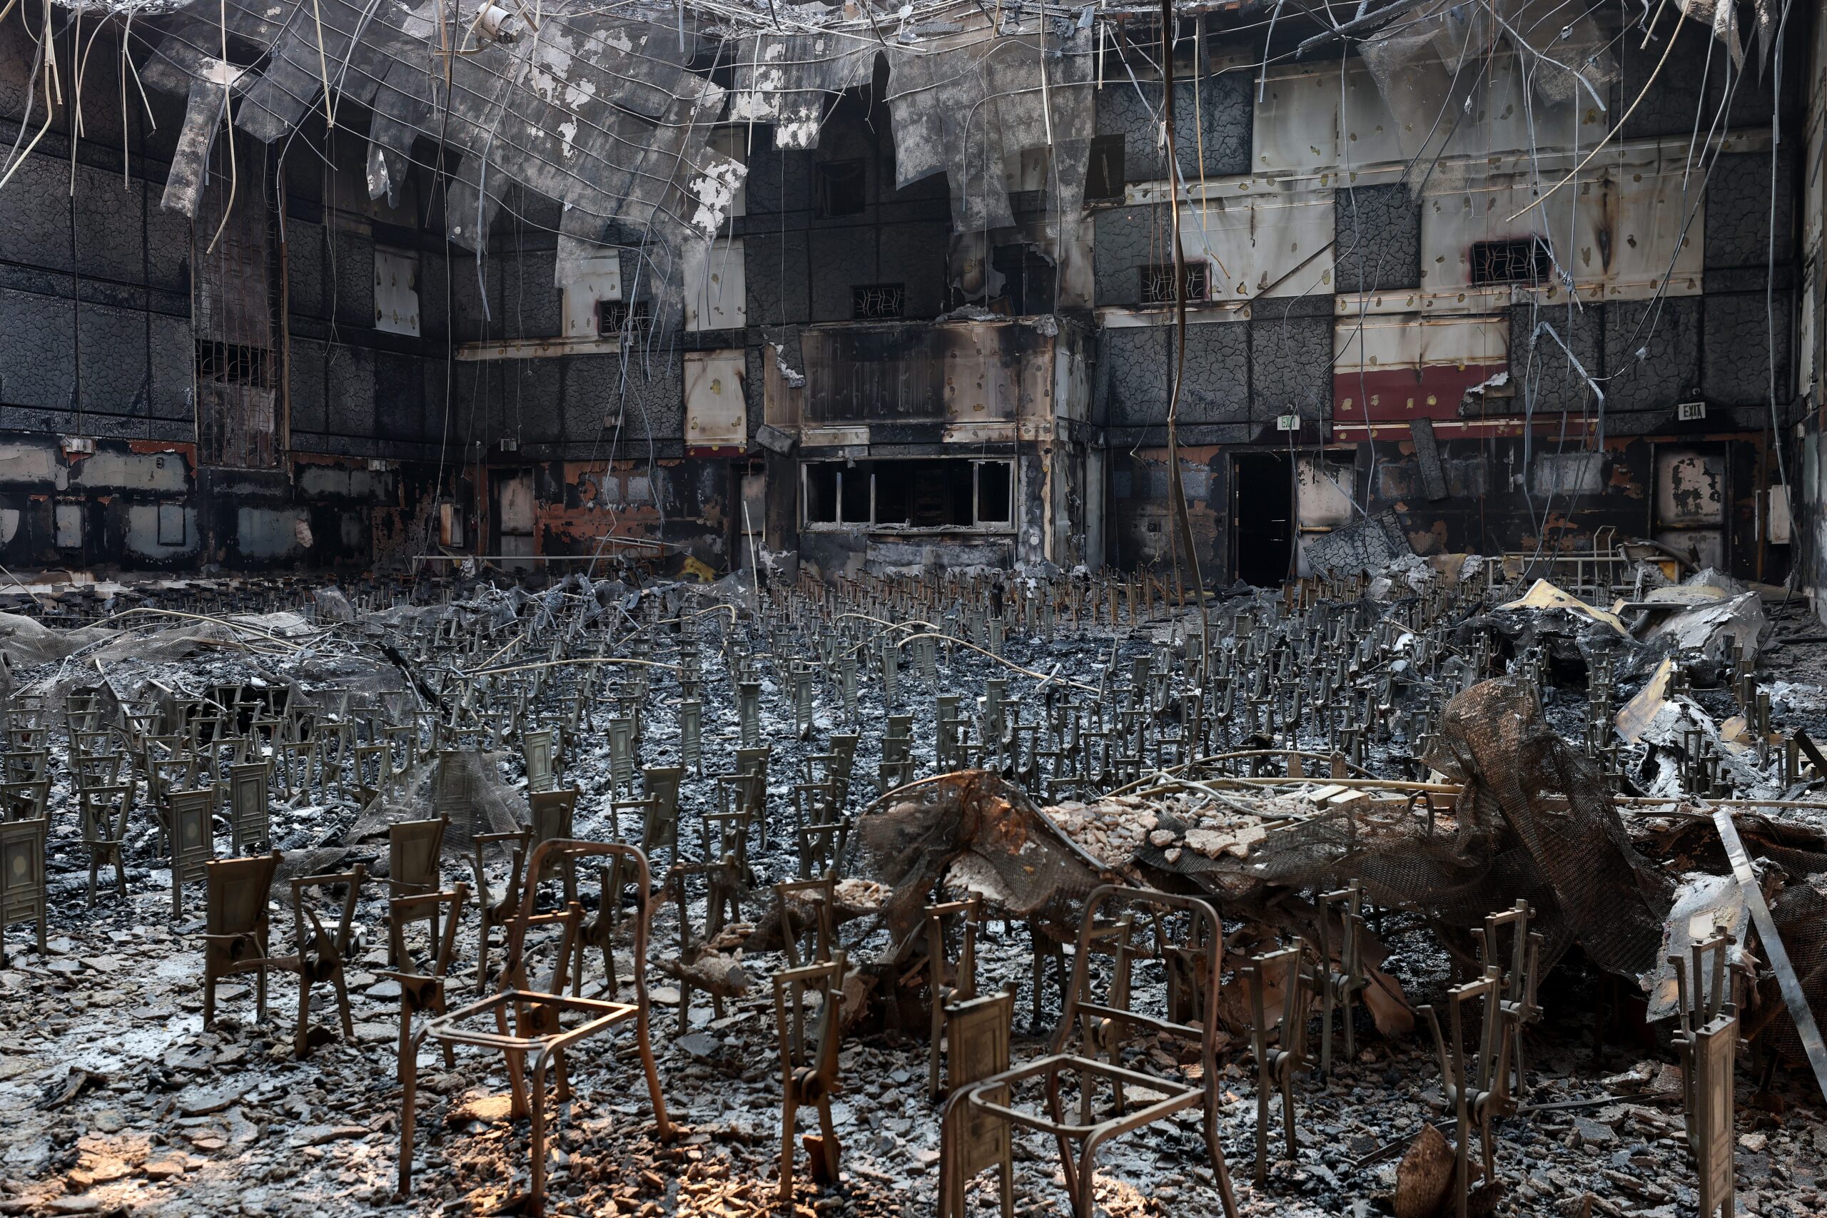
[[[660,1070],[654,1063],[654,1046],[649,1034],[647,1001],[647,931],[652,922],[652,882],[647,869],[647,856],[632,845],[616,842],[577,842],[570,838],[552,838],[533,847],[526,860],[526,875],[544,875],[552,866],[576,866],[581,858],[619,856],[632,864],[632,882],[638,895],[634,911],[634,1003],[610,1003],[603,999],[585,999],[565,993],[566,966],[574,953],[577,926],[583,909],[570,902],[561,913],[535,913],[539,886],[528,882],[521,895],[521,909],[508,924],[508,959],[501,971],[501,990],[491,997],[460,1006],[448,1015],[428,1021],[411,1039],[411,1046],[402,1057],[404,1077],[400,1096],[400,1196],[411,1194],[413,1171],[413,1103],[418,1090],[418,1046],[426,1039],[440,1046],[455,1048],[470,1045],[475,1048],[499,1050],[506,1057],[512,1088],[512,1116],[528,1118],[532,1125],[532,1165],[523,1213],[535,1218],[544,1213],[546,1189],[546,1070],[555,1070],[555,1099],[563,1103],[570,1096],[570,1081],[565,1072],[565,1054],[579,1041],[608,1032],[616,1024],[634,1021],[636,1045],[641,1052],[641,1068],[647,1074],[647,1094],[654,1105],[654,1123],[661,1141],[674,1136],[667,1119],[665,1096],[660,1092]],[[557,924],[561,928],[559,944],[554,955],[552,971],[541,979],[543,988],[528,981],[526,970],[526,931],[533,926]],[[579,1015],[583,1021],[566,1028],[565,1015]],[[488,1024],[493,1024],[491,1028]],[[526,1059],[532,1057],[532,1070]]]

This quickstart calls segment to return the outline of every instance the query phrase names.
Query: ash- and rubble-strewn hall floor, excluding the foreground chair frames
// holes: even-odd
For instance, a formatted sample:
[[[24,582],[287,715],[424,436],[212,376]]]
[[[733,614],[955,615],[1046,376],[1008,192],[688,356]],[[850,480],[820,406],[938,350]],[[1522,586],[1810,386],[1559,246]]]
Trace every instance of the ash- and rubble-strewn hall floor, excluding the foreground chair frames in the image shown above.
[[[661,1136],[632,1023],[583,1041],[574,1094],[550,1108],[554,1213],[782,1209],[771,979],[817,937],[809,898],[782,917],[771,886],[826,869],[846,880],[833,893],[850,970],[831,1101],[840,1174],[815,1181],[797,1145],[795,1211],[937,1207],[921,909],[983,898],[977,990],[1016,992],[1021,1063],[1052,1045],[1083,898],[1100,882],[1195,893],[1224,919],[1209,1081],[1242,1213],[1451,1213],[1423,1129],[1456,1130],[1418,1008],[1445,1015],[1449,988],[1476,975],[1471,931],[1518,898],[1542,935],[1540,1017],[1522,1028],[1516,1110],[1496,1121],[1498,1187],[1478,1198],[1505,1214],[1695,1213],[1666,955],[1717,926],[1737,940],[1750,1037],[1736,1079],[1737,1207],[1827,1209],[1822,1094],[1714,831],[1716,809],[1730,809],[1800,984],[1827,1013],[1827,761],[1814,745],[1827,736],[1827,663],[1818,623],[1779,592],[1644,570],[1630,595],[1588,604],[1454,559],[1226,599],[1204,632],[1158,590],[1083,577],[409,592],[110,588],[106,604],[0,623],[7,816],[31,820],[42,798],[49,820],[44,950],[22,917],[0,970],[5,1213],[488,1213],[524,1191],[528,1123],[510,1118],[501,1054],[459,1048],[448,1065],[428,1043],[413,1192],[398,1196],[389,827],[453,818],[440,887],[460,882],[470,900],[448,997],[493,992],[493,971],[477,977],[479,893],[502,902],[517,862],[471,838],[528,824],[528,789],[548,785],[544,732],[550,785],[577,791],[574,838],[652,835],[645,981],[678,1134]],[[250,743],[228,743],[239,740]],[[738,749],[764,745],[766,783],[734,778]],[[119,761],[95,760],[108,754]],[[274,971],[265,1021],[256,975],[227,977],[203,1026],[205,884],[183,882],[174,917],[161,829],[174,793],[221,783],[214,853],[245,838],[256,855],[263,842],[236,824],[228,787],[247,772],[238,765],[261,763],[265,840],[283,851],[274,955],[296,951],[290,878],[367,873],[343,964],[353,1035],[318,981],[303,1059],[292,973]],[[97,782],[99,765],[119,765],[119,782]],[[660,805],[643,803],[665,787],[643,767],[672,765],[685,769],[676,844]],[[906,782],[917,785],[877,798]],[[133,800],[119,822],[126,895],[102,851],[91,906],[93,842],[117,822],[82,805],[117,803],[82,791],[102,787]],[[694,862],[711,866],[674,871]],[[1308,968],[1345,968],[1348,926],[1321,895],[1354,880],[1354,1052],[1339,1030],[1332,1070],[1315,1070],[1315,1006],[1314,1061],[1292,1083],[1294,1154],[1272,1105],[1259,1183],[1244,970],[1294,937]],[[736,908],[713,909],[725,882]],[[552,875],[539,909],[563,909],[565,887]],[[307,893],[334,937],[345,887]],[[590,864],[576,897],[585,919],[621,915],[616,993],[632,1001],[638,893]],[[1674,908],[1705,917],[1670,939]],[[533,982],[559,929],[528,937]],[[1138,919],[1124,940],[1135,1010],[1167,1006],[1166,948],[1184,946],[1180,929]],[[402,935],[413,971],[431,968],[426,924]],[[506,955],[497,924],[490,968]],[[1087,961],[1096,1001],[1116,959]],[[607,993],[601,951],[581,961],[581,992]],[[1098,1032],[1094,1045],[1164,1087],[1208,1081],[1199,1046],[1169,1035]],[[1149,1096],[1131,1087],[1125,1099]],[[1076,1094],[1067,1103],[1076,1110]],[[802,1108],[798,1132],[817,1129]],[[1012,1156],[1016,1211],[1069,1213],[1054,1143],[1021,1132]],[[1197,1107],[1116,1139],[1098,1172],[1109,1214],[1222,1213]],[[972,1205],[994,1209],[994,1176]]]

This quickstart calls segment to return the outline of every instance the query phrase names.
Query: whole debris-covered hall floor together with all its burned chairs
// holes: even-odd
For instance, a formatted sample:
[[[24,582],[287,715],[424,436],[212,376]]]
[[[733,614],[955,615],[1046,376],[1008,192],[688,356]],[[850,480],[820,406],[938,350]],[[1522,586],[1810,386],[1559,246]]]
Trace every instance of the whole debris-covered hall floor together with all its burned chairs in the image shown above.
[[[1820,1213],[1805,610],[1374,541],[20,606],[0,1205]]]

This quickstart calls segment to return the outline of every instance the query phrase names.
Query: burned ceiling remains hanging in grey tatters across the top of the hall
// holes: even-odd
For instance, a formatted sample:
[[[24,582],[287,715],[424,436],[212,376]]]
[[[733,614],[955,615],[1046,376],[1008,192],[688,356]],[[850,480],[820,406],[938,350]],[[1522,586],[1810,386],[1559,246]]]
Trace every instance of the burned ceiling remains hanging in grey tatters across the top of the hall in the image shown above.
[[[1436,102],[1465,88],[1456,68],[1502,42],[1531,64],[1544,102],[1597,97],[1617,75],[1610,40],[1589,16],[1562,24],[1549,9],[1542,0],[1398,2],[1339,33],[1365,38],[1363,55],[1387,100],[1398,115],[1429,119],[1409,126],[1431,131]],[[1684,0],[1679,9],[1741,55],[1736,5]],[[188,102],[166,208],[195,219],[208,175],[238,173],[232,150],[216,152],[225,126],[280,144],[320,111],[336,126],[365,108],[371,197],[395,197],[411,164],[449,172],[448,234],[482,257],[510,186],[535,192],[561,205],[559,279],[592,252],[638,250],[647,292],[671,301],[663,320],[680,310],[687,247],[714,237],[745,175],[740,159],[713,146],[716,126],[747,124],[753,137],[756,124],[769,124],[776,146],[813,148],[831,95],[870,82],[882,60],[897,184],[945,173],[954,232],[1003,228],[1014,225],[1005,159],[1047,148],[1045,236],[1061,241],[1082,210],[1098,60],[1111,49],[1125,58],[1138,49],[1125,26],[1149,44],[1140,47],[1149,58],[1147,26],[1158,29],[1153,7],[992,11],[957,0],[893,11],[579,0],[473,9],[382,0],[122,2],[71,7],[71,20],[95,20],[97,11],[121,18],[141,88]],[[1770,5],[1752,11],[1767,55]],[[1270,13],[1250,2],[1217,16],[1255,29]],[[51,15],[46,4],[42,20],[27,26],[53,31]],[[1211,24],[1200,29],[1219,33]],[[44,62],[40,51],[35,71],[42,113],[27,113],[27,126],[48,126],[49,111],[71,102],[55,57]],[[1421,144],[1410,150],[1418,157]]]

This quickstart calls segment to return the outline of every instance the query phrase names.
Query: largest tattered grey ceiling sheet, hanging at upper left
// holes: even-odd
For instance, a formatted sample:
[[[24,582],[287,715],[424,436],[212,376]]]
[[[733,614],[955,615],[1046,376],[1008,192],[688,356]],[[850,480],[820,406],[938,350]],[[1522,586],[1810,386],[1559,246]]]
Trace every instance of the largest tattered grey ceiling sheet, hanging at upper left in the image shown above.
[[[482,42],[468,26],[440,27],[442,11],[429,0],[230,4],[230,38],[265,51],[248,69],[221,64],[216,5],[168,18],[143,73],[150,88],[190,97],[164,206],[195,215],[225,110],[272,142],[320,106],[334,113],[353,102],[373,110],[371,197],[396,195],[426,139],[457,153],[446,195],[455,243],[481,248],[508,188],[524,186],[563,205],[568,252],[639,250],[649,283],[634,290],[678,310],[683,248],[716,236],[745,173],[707,142],[725,91],[689,69],[696,37],[555,9],[513,42]],[[451,44],[464,53],[446,57]],[[227,100],[223,80],[232,80]]]

